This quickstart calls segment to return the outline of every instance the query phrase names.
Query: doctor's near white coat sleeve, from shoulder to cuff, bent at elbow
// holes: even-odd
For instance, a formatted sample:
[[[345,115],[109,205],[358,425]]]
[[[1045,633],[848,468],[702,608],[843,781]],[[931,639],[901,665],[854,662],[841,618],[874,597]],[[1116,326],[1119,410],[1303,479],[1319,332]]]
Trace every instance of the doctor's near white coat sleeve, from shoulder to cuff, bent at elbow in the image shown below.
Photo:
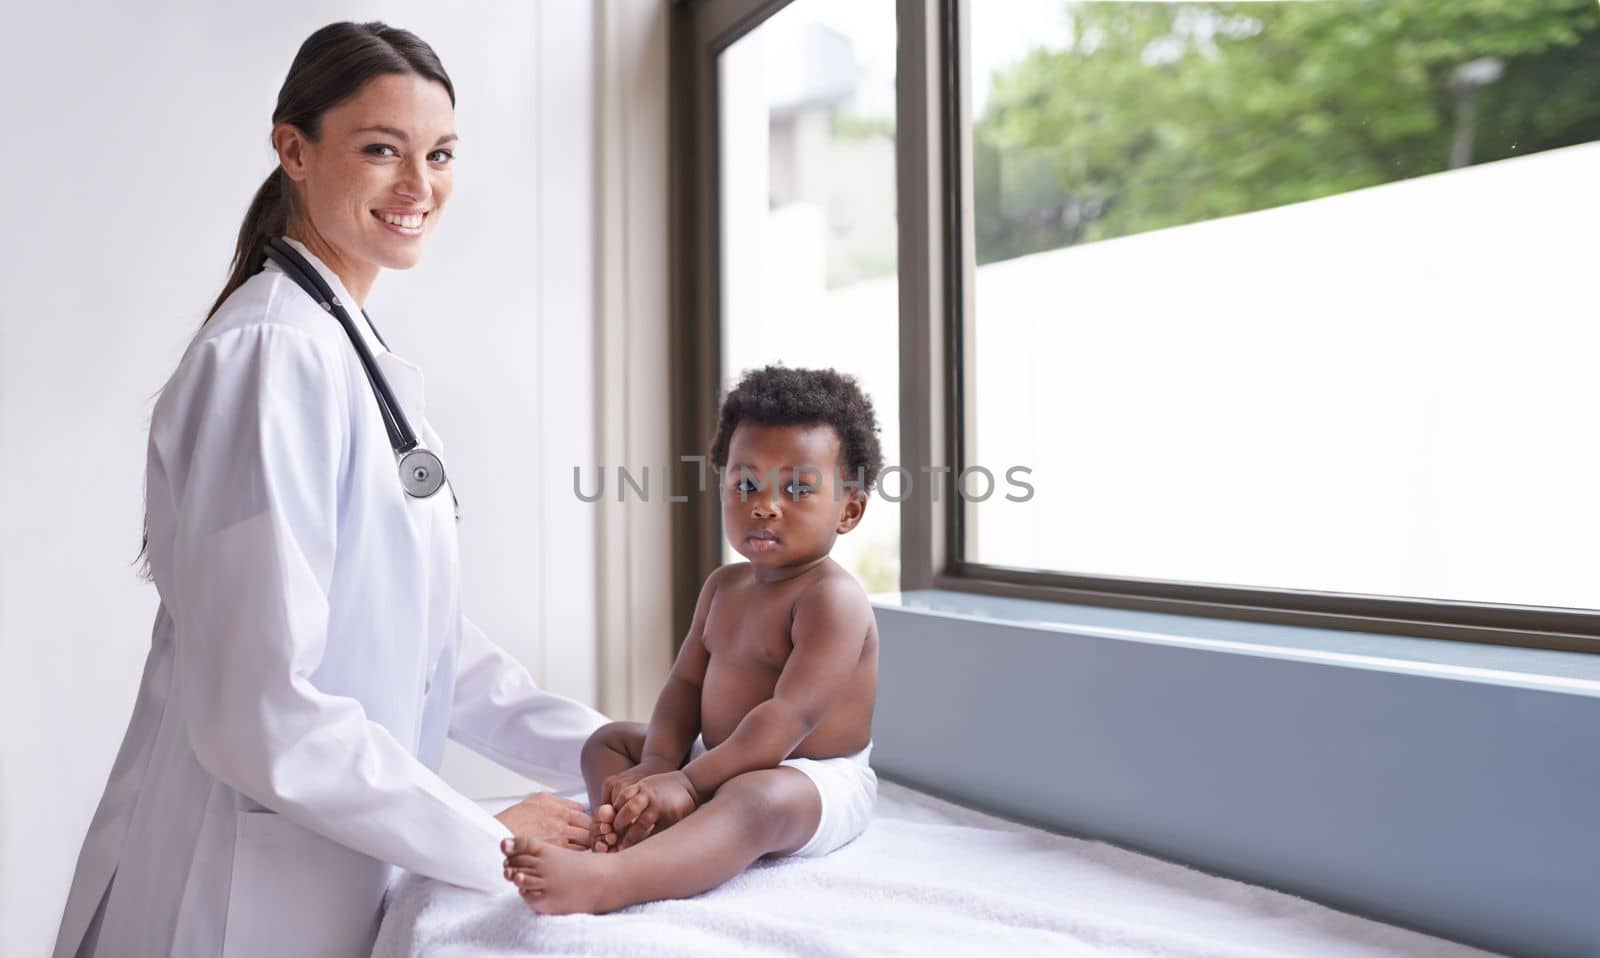
[[[200,764],[285,819],[419,875],[504,888],[493,816],[355,699],[310,675],[328,646],[349,377],[309,331],[200,345],[152,433],[173,477],[174,675]],[[168,405],[168,400],[171,403]]]

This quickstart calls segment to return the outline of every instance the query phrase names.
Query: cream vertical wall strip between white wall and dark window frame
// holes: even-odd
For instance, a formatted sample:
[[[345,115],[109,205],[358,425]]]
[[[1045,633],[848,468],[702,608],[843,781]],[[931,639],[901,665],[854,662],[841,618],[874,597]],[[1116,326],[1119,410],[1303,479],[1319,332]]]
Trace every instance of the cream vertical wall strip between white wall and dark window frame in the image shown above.
[[[595,465],[675,462],[672,448],[667,0],[595,0]],[[661,475],[658,465],[658,477]],[[594,475],[594,473],[590,473]],[[570,473],[568,473],[570,477]],[[570,478],[568,478],[570,481]],[[672,667],[672,505],[602,499],[600,702],[645,721]]]

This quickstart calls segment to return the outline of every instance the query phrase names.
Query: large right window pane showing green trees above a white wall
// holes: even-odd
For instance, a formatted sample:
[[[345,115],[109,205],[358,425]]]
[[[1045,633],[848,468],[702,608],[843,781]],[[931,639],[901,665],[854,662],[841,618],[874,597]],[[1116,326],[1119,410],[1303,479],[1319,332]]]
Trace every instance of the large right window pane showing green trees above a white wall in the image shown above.
[[[966,18],[962,560],[1600,608],[1600,8]]]

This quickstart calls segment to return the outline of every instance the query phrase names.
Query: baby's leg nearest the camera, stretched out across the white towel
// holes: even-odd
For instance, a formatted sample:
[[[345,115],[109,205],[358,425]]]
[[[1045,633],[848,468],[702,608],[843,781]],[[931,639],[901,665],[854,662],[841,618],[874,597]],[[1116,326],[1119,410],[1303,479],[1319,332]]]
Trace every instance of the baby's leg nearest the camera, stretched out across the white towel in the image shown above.
[[[803,846],[821,817],[822,798],[803,772],[758,769],[650,841],[595,856],[518,840],[510,865],[534,912],[598,915],[717,888],[765,854]]]

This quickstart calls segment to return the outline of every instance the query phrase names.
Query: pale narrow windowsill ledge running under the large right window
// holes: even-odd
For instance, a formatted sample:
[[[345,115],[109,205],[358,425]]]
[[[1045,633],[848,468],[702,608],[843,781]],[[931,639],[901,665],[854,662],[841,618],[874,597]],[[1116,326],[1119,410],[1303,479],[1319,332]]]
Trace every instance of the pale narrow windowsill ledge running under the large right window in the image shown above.
[[[1339,629],[1112,609],[973,592],[918,590],[872,597],[874,608],[1406,675],[1563,691],[1600,697],[1600,656]]]

